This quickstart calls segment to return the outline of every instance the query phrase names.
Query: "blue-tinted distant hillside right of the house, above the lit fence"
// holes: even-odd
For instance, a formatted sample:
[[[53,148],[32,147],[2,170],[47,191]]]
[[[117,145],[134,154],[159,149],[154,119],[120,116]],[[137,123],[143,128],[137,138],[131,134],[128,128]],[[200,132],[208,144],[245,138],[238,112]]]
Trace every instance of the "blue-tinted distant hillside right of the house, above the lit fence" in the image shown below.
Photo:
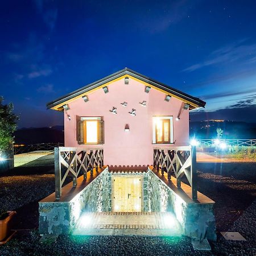
[[[189,135],[199,139],[212,139],[217,137],[216,129],[220,127],[225,139],[255,139],[256,123],[235,122],[235,121],[200,121],[189,122]]]

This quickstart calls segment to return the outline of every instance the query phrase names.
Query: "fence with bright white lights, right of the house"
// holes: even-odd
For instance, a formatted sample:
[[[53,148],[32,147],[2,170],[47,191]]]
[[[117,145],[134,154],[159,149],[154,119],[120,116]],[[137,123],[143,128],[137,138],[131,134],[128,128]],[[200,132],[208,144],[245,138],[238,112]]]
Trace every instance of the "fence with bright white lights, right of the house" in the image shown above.
[[[256,146],[256,139],[199,139],[200,146],[216,146],[225,143],[230,146]]]

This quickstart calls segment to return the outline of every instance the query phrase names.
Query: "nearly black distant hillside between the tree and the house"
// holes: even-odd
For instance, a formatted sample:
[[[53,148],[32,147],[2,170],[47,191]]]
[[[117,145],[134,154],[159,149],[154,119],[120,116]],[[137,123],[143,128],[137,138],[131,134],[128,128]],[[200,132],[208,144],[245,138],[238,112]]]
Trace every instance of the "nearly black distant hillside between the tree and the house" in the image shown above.
[[[64,143],[64,127],[23,128],[15,131],[16,144]]]

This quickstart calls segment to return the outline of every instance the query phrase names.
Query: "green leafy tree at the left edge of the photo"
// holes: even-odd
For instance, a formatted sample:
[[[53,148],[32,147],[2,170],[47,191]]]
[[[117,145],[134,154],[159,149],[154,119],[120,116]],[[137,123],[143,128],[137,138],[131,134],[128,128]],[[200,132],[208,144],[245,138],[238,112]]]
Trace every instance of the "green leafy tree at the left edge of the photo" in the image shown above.
[[[3,97],[0,96],[0,156],[12,147],[18,119],[13,113],[13,104],[3,105]]]

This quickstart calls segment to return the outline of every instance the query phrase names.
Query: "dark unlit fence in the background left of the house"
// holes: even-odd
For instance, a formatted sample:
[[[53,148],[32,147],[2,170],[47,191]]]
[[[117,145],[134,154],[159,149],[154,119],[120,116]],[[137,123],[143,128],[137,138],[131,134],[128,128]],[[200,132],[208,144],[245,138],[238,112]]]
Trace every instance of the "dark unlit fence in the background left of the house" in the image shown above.
[[[54,150],[55,147],[63,146],[63,143],[40,143],[30,145],[14,145],[14,155],[38,150]]]

